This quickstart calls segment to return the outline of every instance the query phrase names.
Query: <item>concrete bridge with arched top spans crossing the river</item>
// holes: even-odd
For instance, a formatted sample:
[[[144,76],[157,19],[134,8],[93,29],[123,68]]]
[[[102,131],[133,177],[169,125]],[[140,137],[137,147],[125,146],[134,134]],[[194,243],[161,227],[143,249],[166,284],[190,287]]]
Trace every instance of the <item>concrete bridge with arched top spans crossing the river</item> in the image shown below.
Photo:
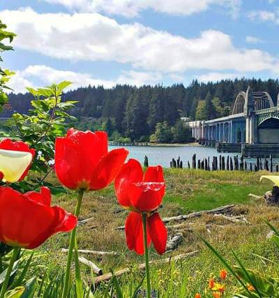
[[[273,149],[278,146],[279,152],[279,94],[275,106],[267,92],[253,92],[249,87],[236,97],[231,115],[188,124],[197,142],[216,144],[218,149],[223,148],[219,151],[239,151],[241,144],[242,148],[262,144]]]

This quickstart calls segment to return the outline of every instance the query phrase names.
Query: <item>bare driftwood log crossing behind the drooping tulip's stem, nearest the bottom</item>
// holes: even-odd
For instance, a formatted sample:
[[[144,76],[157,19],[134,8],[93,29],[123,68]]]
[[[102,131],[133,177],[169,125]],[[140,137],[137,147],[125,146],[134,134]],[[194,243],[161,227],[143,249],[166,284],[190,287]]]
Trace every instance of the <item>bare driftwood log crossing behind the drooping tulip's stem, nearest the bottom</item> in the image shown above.
[[[190,253],[183,253],[182,255],[176,255],[175,257],[169,257],[169,258],[165,258],[163,260],[153,260],[153,261],[150,261],[149,264],[168,263],[172,260],[176,261],[176,260],[180,260],[180,259],[183,259],[183,258],[193,257],[193,256],[197,255],[198,252],[199,251],[192,251]],[[140,269],[140,270],[145,269],[145,263],[142,263],[142,264],[138,265],[137,268]],[[114,276],[121,276],[122,274],[126,274],[129,271],[130,271],[130,268],[124,268],[124,269],[121,269],[119,271],[114,272]],[[94,282],[96,284],[98,284],[98,283],[101,283],[102,281],[110,281],[110,278],[112,278],[112,274],[107,273],[107,274],[104,274],[102,276],[96,277],[94,279]]]

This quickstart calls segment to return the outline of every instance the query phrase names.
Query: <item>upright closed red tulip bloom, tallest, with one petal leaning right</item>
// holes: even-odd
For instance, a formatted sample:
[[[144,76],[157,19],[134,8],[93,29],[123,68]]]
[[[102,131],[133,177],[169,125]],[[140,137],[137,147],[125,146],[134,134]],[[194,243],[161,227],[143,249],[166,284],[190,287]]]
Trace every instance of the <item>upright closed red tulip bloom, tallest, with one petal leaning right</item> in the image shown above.
[[[128,156],[126,149],[107,151],[107,133],[76,131],[57,137],[55,169],[61,184],[71,189],[93,191],[110,184]]]

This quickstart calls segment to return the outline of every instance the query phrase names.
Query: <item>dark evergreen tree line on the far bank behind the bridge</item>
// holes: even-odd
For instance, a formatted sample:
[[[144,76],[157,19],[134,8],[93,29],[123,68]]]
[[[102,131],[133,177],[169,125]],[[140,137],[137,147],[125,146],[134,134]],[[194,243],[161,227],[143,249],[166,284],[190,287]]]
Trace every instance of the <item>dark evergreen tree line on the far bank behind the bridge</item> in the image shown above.
[[[278,80],[236,79],[201,83],[194,80],[188,87],[116,85],[81,87],[63,94],[63,100],[77,100],[70,114],[84,129],[105,129],[112,140],[189,142],[190,130],[181,117],[207,120],[225,117],[232,111],[239,91],[248,86],[267,91],[276,104]],[[31,94],[10,94],[9,105],[1,117],[14,111],[27,113]]]

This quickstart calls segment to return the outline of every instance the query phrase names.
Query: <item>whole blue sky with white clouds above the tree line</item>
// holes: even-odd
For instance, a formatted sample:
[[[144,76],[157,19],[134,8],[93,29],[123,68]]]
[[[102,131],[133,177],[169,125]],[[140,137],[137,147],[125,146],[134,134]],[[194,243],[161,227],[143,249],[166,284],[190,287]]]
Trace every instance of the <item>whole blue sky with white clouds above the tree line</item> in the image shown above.
[[[1,0],[15,92],[279,76],[279,0]]]

